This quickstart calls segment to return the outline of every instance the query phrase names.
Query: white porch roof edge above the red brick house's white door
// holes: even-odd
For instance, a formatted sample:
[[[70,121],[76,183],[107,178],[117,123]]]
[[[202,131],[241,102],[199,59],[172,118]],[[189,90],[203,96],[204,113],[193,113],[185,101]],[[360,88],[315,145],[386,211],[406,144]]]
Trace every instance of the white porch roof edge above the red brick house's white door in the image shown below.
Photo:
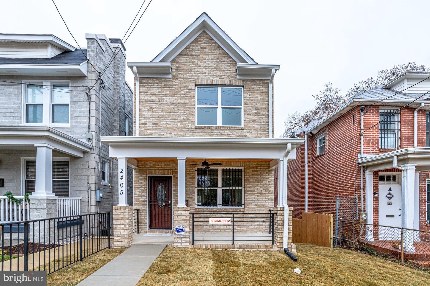
[[[378,154],[371,157],[360,158],[357,161],[359,166],[365,166],[369,171],[377,171],[393,168],[393,157],[397,156],[397,166],[404,164],[417,164],[415,170],[423,171],[430,169],[430,148],[403,148]]]

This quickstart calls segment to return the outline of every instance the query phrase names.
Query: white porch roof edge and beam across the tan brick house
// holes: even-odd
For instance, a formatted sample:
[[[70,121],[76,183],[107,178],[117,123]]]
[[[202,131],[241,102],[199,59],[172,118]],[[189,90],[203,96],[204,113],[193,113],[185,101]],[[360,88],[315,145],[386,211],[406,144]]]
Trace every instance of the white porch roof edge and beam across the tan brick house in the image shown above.
[[[118,158],[267,159],[283,158],[288,144],[295,158],[299,138],[131,137],[102,136],[109,156]]]

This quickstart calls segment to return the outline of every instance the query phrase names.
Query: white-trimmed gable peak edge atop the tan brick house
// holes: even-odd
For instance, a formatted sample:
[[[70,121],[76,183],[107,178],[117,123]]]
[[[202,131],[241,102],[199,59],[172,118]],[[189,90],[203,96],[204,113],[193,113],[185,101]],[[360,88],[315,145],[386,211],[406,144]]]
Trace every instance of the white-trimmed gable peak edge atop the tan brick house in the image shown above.
[[[151,62],[170,62],[200,33],[205,31],[227,52],[237,63],[257,63],[249,56],[224,30],[221,29],[206,12],[203,12],[193,23],[190,24],[176,39],[173,40],[163,51],[154,57]]]

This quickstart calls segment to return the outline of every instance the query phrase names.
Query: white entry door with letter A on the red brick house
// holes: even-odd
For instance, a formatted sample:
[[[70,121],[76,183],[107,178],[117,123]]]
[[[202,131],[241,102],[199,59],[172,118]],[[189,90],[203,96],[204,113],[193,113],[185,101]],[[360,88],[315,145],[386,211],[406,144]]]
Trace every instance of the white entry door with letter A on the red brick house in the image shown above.
[[[379,185],[379,225],[402,226],[402,186]],[[400,241],[400,229],[379,227],[379,240]]]

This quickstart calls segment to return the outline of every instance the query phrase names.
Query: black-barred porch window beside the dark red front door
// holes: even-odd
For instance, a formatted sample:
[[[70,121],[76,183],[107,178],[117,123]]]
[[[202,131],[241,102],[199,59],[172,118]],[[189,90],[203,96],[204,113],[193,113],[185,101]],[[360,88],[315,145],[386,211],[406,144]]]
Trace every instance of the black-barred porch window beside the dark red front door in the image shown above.
[[[243,202],[242,168],[197,168],[196,206],[241,208]]]

